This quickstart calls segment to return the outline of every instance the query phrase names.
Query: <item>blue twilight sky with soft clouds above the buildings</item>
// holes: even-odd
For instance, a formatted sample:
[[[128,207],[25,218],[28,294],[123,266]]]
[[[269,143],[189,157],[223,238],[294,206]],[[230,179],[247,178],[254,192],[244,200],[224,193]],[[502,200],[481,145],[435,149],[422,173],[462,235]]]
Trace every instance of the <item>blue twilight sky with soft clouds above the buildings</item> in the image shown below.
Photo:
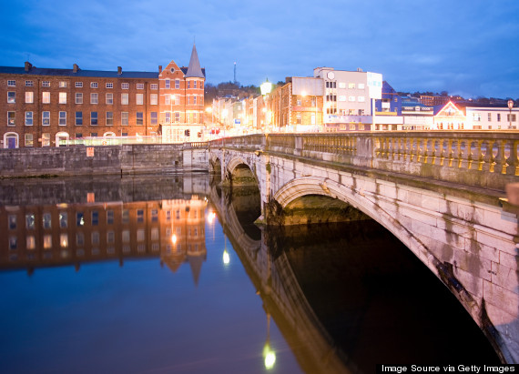
[[[259,86],[313,68],[382,73],[397,91],[519,98],[517,0],[0,0],[0,66],[157,71]]]

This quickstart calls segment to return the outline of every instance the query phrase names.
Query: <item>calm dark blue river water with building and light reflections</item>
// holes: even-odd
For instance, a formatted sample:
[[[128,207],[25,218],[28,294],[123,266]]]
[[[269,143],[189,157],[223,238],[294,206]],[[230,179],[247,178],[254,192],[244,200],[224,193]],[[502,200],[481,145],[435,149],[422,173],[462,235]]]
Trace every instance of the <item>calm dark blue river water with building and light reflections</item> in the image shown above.
[[[371,224],[260,230],[258,197],[229,197],[205,175],[40,185],[0,184],[5,372],[370,372],[471,349],[494,359],[472,321],[450,315],[443,286]]]

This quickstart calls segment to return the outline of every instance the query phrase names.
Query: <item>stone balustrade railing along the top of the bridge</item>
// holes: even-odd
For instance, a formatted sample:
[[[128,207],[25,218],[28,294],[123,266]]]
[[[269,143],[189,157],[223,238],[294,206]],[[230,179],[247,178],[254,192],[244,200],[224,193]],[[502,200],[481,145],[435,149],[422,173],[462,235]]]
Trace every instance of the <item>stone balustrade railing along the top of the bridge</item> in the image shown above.
[[[219,139],[210,147],[260,149],[501,191],[519,182],[515,131],[269,134]]]

